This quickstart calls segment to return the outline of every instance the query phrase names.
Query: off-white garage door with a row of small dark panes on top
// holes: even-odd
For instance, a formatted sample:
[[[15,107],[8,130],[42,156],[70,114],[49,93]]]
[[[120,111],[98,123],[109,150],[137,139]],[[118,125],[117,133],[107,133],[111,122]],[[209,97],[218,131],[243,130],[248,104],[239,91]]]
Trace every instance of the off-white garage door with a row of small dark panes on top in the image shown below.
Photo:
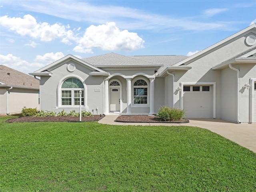
[[[183,109],[186,118],[213,118],[213,86],[184,85]]]

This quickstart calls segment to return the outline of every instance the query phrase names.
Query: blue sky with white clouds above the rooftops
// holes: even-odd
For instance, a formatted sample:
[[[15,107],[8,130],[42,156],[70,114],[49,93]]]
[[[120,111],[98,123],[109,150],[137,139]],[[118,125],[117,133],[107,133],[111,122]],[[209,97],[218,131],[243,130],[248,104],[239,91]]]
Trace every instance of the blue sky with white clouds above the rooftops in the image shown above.
[[[190,56],[253,23],[255,0],[1,0],[0,64],[28,73],[68,54]]]

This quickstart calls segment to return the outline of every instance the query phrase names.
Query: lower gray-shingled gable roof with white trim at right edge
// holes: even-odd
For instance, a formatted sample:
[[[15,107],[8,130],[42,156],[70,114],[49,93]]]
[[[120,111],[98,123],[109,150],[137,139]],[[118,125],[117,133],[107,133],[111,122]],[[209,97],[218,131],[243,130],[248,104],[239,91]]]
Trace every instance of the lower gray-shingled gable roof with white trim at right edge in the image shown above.
[[[228,64],[230,63],[242,63],[242,62],[246,62],[246,63],[250,63],[250,62],[253,62],[255,63],[256,62],[256,46],[232,57],[232,58],[229,58],[228,60],[216,65],[216,66],[213,66],[212,69],[222,69],[222,68],[225,68],[228,66]]]

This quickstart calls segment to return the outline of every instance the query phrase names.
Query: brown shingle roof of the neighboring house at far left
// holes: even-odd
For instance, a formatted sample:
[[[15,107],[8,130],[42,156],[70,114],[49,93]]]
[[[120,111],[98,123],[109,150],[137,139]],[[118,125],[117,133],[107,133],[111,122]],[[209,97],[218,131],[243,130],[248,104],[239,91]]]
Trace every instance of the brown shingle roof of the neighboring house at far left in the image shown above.
[[[38,89],[39,80],[34,77],[0,65],[0,87]]]

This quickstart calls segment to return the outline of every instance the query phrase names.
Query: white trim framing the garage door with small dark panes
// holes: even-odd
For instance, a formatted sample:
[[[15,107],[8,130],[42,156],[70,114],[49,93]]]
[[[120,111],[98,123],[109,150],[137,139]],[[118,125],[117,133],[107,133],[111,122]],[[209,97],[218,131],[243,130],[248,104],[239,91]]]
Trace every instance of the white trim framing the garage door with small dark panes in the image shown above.
[[[216,118],[216,82],[180,82],[180,109],[183,109],[183,85],[212,85],[213,86],[213,118]]]

